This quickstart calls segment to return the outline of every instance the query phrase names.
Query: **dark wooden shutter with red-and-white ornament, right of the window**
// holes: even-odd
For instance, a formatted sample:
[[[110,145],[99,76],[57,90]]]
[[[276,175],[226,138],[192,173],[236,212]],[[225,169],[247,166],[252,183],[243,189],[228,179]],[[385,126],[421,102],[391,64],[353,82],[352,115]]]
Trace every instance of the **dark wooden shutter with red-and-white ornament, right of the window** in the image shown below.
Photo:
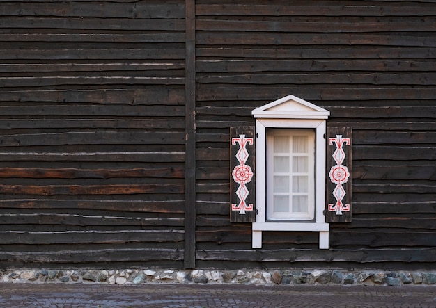
[[[351,127],[327,127],[326,222],[351,222]]]

